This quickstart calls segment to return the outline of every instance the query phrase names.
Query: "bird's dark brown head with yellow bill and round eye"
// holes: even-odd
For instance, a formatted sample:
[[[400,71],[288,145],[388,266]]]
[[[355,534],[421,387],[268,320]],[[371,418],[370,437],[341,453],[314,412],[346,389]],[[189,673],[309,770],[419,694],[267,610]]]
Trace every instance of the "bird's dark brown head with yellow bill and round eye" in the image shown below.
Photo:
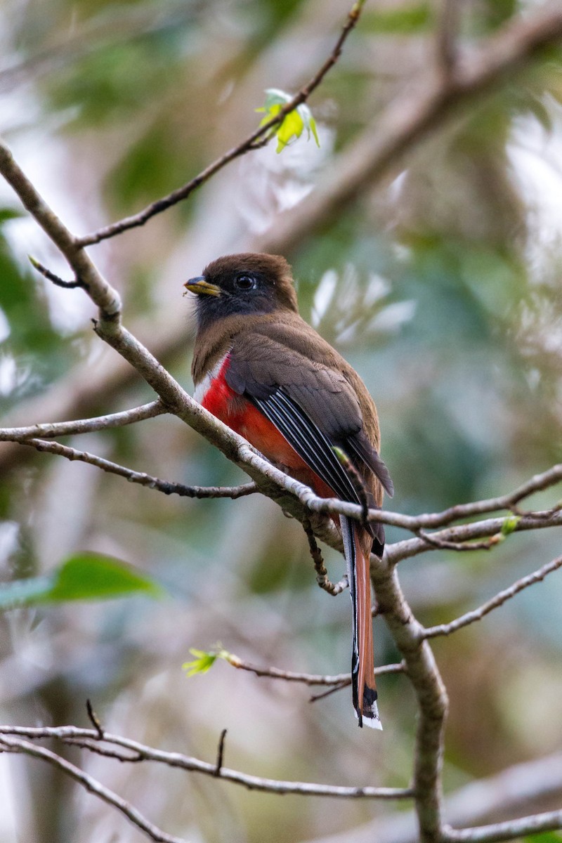
[[[200,327],[232,314],[297,313],[291,266],[281,255],[243,252],[213,260],[185,288],[197,294]]]

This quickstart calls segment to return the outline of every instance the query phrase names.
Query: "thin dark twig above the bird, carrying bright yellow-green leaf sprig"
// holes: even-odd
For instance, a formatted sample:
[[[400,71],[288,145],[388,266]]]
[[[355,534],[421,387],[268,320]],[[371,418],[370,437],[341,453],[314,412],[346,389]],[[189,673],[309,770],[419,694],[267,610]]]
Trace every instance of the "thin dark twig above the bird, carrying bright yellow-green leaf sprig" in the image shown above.
[[[205,184],[212,175],[215,175],[215,173],[217,173],[220,169],[225,167],[227,164],[230,164],[234,158],[240,158],[252,149],[258,149],[265,146],[265,143],[269,142],[271,137],[273,137],[272,130],[274,130],[276,126],[279,126],[282,121],[285,120],[286,115],[294,111],[298,105],[302,105],[302,103],[307,101],[310,94],[318,88],[318,85],[322,82],[330,67],[334,67],[335,63],[340,58],[345,40],[348,35],[350,35],[351,30],[355,28],[356,23],[359,20],[363,3],[364,0],[360,0],[360,2],[353,4],[350,13],[347,16],[347,20],[345,21],[345,25],[341,30],[340,37],[336,41],[335,47],[329,57],[326,59],[322,67],[320,67],[318,72],[314,74],[313,78],[310,79],[310,81],[304,85],[297,94],[295,94],[292,100],[282,106],[281,110],[275,117],[271,117],[269,121],[252,132],[252,134],[244,141],[238,143],[238,146],[228,150],[227,153],[224,153],[224,155],[217,158],[217,160],[212,164],[209,164],[206,169],[204,169],[199,175],[196,175],[194,179],[188,181],[187,184],[179,187],[175,191],[172,191],[168,196],[163,196],[162,199],[152,202],[141,212],[136,213],[131,217],[125,217],[125,219],[121,219],[117,223],[105,226],[104,228],[99,228],[98,231],[94,231],[92,234],[86,234],[84,237],[78,238],[76,241],[77,244],[79,246],[91,246],[95,243],[100,243],[102,240],[115,237],[116,234],[122,234],[130,228],[137,228],[138,226],[144,225],[147,220],[151,219],[156,214],[162,213],[169,207],[177,205],[179,201],[186,199],[190,196],[190,193]]]

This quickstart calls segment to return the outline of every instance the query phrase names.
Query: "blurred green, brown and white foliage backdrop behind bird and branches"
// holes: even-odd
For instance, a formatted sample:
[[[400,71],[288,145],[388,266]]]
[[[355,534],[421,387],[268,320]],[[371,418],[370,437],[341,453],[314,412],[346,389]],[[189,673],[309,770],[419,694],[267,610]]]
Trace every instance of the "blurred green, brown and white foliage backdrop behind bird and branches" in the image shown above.
[[[538,3],[459,2],[470,49]],[[295,91],[329,55],[336,0],[4,0],[2,132],[76,234],[140,210],[257,125],[264,89]],[[275,243],[280,214],[306,202],[407,96],[434,61],[436,12],[416,0],[367,3],[310,105],[304,138],[234,162],[190,200],[90,250],[125,300],[125,322],[188,389],[194,334],[183,282],[228,252]],[[562,76],[545,51],[494,94],[365,180],[340,214],[286,248],[302,315],[354,365],[376,400],[392,508],[431,512],[511,491],[560,459],[562,416]],[[52,287],[27,255],[68,277],[39,228],[0,185],[0,402],[3,424],[79,418],[152,400],[93,335],[80,290]],[[177,419],[72,438],[77,448],[187,484],[244,480]],[[91,466],[2,445],[0,576],[50,571],[76,550],[118,556],[168,589],[20,609],[0,618],[0,717],[104,728],[260,776],[408,784],[415,705],[407,681],[379,683],[382,734],[362,732],[349,689],[310,690],[217,663],[186,679],[190,647],[222,642],[261,665],[340,673],[350,605],[314,582],[298,524],[269,500],[165,497]],[[548,507],[555,489],[530,502]],[[404,538],[388,529],[388,540]],[[560,553],[556,530],[491,552],[435,551],[401,563],[404,591],[432,625],[461,614]],[[325,550],[333,579],[343,561]],[[562,576],[481,623],[437,640],[451,698],[445,787],[562,748]],[[375,623],[377,663],[397,653]],[[201,776],[117,765],[65,750],[169,833],[218,843],[347,835],[388,803],[246,792]],[[142,835],[39,761],[0,758],[0,840],[138,843]]]

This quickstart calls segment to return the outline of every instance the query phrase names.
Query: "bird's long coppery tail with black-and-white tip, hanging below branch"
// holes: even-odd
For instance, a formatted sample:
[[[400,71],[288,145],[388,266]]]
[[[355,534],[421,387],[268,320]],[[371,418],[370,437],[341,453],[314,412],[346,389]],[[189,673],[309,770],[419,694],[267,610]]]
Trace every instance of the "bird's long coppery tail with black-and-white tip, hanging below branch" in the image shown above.
[[[353,612],[353,654],[351,656],[351,683],[353,707],[362,727],[382,729],[377,709],[372,653],[371,574],[369,554],[362,550],[361,527],[345,515],[340,515],[341,535],[344,540],[345,562],[350,583]],[[369,536],[372,543],[372,538]]]

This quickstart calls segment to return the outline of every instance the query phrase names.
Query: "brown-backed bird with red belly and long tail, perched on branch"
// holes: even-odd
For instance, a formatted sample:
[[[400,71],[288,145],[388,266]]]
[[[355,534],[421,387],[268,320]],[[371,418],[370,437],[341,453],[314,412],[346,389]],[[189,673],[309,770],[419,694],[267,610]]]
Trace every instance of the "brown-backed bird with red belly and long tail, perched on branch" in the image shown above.
[[[286,259],[224,255],[184,286],[197,297],[195,400],[319,497],[378,508],[383,490],[392,497],[371,395],[351,365],[299,315]],[[380,729],[370,554],[382,556],[384,528],[345,515],[332,518],[343,540],[351,593],[353,707],[360,727]]]

